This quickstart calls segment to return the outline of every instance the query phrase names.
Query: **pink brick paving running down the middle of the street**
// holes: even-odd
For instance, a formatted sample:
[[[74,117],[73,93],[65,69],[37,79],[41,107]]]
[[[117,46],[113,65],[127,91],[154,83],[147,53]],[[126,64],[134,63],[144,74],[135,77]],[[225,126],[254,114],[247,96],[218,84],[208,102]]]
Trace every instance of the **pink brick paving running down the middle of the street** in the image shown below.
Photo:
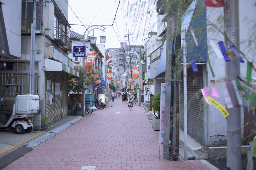
[[[196,160],[163,160],[162,146],[159,159],[158,144],[159,131],[153,130],[142,107],[134,104],[130,111],[117,97],[3,169],[210,169]]]

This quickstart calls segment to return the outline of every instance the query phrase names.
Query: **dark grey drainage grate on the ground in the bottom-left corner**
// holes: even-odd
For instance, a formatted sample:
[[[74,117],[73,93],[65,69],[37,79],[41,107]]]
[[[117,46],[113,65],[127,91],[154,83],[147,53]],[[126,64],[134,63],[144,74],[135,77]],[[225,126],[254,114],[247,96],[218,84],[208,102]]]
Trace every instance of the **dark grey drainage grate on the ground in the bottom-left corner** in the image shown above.
[[[0,158],[0,169],[6,167],[7,165],[11,164],[15,160],[19,159],[20,157],[26,155],[28,152],[32,151],[33,148],[25,148],[20,147],[15,149],[14,151],[8,153],[7,155]]]

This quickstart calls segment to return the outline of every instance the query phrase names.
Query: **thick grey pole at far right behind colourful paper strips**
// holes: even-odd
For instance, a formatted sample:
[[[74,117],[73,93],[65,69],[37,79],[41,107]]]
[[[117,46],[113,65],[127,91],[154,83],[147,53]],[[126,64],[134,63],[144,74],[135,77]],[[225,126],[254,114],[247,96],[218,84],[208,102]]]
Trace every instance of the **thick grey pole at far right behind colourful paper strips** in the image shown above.
[[[240,48],[239,43],[239,1],[227,0],[226,11],[228,17],[224,17],[227,23],[228,37]],[[225,9],[225,8],[224,8]],[[226,40],[226,45],[230,45]],[[227,48],[229,48],[227,46]],[[240,61],[238,57],[230,57],[230,62],[226,62],[226,75],[228,81],[235,80],[240,75]],[[232,170],[241,169],[241,108],[238,104],[235,91],[228,86],[228,92],[231,97],[233,108],[227,109],[230,114],[227,117],[227,167]]]

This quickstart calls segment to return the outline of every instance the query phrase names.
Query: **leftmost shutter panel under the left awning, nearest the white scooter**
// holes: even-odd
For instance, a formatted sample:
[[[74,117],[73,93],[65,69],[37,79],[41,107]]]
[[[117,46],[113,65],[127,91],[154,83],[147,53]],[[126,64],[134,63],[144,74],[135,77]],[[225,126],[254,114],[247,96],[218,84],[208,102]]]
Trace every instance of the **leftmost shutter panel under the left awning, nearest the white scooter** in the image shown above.
[[[52,90],[47,90],[47,80],[54,82],[54,72],[45,71],[45,92],[52,94]],[[52,85],[50,85],[52,87]],[[49,127],[54,123],[54,104],[50,105],[50,100],[46,99],[45,93],[45,116],[50,119],[49,122],[46,123],[46,127]],[[48,100],[48,101],[46,101]]]

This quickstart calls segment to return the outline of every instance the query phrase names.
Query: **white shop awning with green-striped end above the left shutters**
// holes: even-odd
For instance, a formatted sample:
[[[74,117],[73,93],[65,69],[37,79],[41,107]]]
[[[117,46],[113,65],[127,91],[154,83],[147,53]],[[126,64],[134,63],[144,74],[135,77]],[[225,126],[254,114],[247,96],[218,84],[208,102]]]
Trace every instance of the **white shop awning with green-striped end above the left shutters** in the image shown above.
[[[68,78],[79,77],[79,72],[68,67],[67,65],[60,63],[58,61],[45,58],[45,71],[64,71],[68,73]]]

